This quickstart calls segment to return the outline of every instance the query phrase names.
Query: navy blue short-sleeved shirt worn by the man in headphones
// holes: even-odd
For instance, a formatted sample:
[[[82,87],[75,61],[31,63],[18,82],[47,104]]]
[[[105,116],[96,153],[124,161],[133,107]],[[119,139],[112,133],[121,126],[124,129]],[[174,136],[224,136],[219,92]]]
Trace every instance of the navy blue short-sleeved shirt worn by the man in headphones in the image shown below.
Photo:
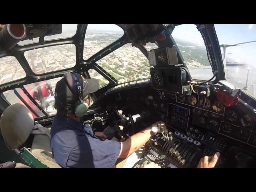
[[[121,143],[101,140],[88,124],[57,114],[52,122],[51,149],[54,160],[64,168],[112,168]]]

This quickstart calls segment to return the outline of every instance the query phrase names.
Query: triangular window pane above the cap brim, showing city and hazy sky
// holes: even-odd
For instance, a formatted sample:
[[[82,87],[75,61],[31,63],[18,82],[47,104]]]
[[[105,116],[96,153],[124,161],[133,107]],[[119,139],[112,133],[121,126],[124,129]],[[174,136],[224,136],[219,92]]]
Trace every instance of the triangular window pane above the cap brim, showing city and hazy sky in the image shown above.
[[[84,36],[84,60],[122,37],[124,31],[116,24],[88,24]]]

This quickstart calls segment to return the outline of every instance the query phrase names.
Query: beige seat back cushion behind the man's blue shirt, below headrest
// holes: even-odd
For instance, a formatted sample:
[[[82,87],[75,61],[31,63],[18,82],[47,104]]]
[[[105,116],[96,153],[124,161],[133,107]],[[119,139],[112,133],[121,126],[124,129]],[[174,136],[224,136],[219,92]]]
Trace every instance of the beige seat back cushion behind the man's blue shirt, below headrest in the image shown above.
[[[61,168],[52,157],[50,138],[47,135],[36,134],[32,143],[32,154],[50,168]]]

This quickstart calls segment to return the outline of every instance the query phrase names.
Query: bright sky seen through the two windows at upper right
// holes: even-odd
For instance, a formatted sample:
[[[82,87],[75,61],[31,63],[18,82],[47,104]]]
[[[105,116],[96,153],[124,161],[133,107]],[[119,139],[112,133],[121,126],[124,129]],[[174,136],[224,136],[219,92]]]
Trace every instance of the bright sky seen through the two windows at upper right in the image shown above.
[[[256,24],[214,24],[219,44],[237,44],[256,40]],[[200,32],[194,24],[176,26],[172,36],[204,45]],[[223,49],[221,48],[222,54]],[[256,68],[256,42],[226,48],[226,55],[232,53],[236,58]]]

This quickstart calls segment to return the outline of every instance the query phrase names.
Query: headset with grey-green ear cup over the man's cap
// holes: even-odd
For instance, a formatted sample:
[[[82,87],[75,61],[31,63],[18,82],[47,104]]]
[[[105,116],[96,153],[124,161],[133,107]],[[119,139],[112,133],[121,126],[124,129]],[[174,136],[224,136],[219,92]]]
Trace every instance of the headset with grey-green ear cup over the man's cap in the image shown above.
[[[72,73],[71,76],[75,80],[76,88],[77,88],[78,94],[79,94],[79,101],[76,102],[76,104],[73,108],[73,112],[77,117],[82,117],[82,116],[86,115],[89,105],[83,101],[83,90],[82,90],[82,86],[79,82],[79,79],[77,78],[77,76],[74,73]]]

